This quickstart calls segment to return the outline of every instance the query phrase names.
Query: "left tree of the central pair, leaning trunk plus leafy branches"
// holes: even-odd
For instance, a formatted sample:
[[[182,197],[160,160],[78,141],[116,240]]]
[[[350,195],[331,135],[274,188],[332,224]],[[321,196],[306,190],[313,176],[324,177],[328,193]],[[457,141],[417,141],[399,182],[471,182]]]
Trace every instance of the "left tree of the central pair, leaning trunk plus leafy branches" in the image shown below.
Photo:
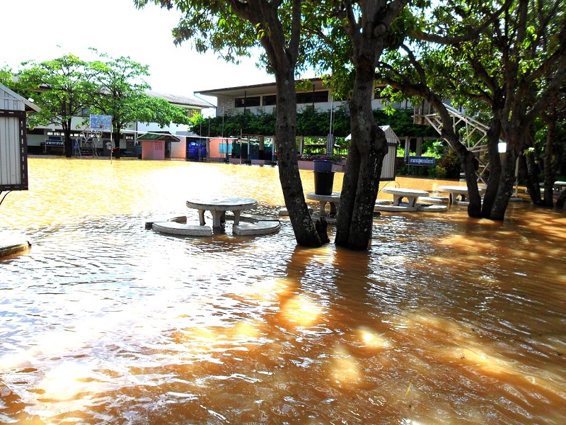
[[[134,0],[134,4],[143,7],[149,1],[166,8],[177,8],[183,13],[183,18],[173,29],[175,42],[191,40],[199,52],[212,49],[225,60],[237,62],[238,57],[250,56],[255,48],[262,47],[266,68],[275,75],[277,85],[275,140],[279,181],[291,225],[299,244],[320,246],[320,237],[304,200],[295,146],[294,80],[301,47],[302,13],[308,10],[302,6],[307,2]],[[243,120],[246,118],[244,115]],[[241,128],[248,130],[247,123],[242,123]]]

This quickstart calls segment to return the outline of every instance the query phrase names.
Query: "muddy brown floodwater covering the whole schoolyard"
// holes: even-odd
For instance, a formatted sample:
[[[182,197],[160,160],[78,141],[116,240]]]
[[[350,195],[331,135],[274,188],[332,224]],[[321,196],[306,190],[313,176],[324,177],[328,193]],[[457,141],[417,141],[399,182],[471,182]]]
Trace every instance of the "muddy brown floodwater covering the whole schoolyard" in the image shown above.
[[[189,194],[238,193],[277,215],[277,169],[29,168],[30,191],[0,207],[0,229],[33,243],[0,260],[2,424],[566,419],[563,211],[384,212],[369,252],[303,249],[288,222],[253,238],[230,222],[202,239],[144,229],[156,214],[197,222]]]

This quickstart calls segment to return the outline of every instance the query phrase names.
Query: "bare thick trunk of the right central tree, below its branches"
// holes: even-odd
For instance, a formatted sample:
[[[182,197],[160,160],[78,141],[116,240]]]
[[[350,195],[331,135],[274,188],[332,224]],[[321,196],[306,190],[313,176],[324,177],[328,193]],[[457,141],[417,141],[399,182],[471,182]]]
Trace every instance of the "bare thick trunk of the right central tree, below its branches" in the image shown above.
[[[374,220],[383,158],[387,154],[385,133],[374,120],[371,95],[374,67],[357,68],[350,101],[352,142],[346,161],[335,244],[349,249],[368,249]]]

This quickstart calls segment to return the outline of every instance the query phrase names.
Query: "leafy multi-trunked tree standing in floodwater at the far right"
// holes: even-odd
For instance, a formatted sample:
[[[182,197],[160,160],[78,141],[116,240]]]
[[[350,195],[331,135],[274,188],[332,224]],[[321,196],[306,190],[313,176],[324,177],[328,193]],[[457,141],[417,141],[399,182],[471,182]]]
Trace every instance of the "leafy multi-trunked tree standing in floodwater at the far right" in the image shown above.
[[[534,120],[565,84],[566,22],[564,13],[558,12],[565,7],[565,0],[436,4],[416,17],[419,26],[411,32],[413,37],[383,64],[387,81],[405,96],[426,98],[443,117],[443,136],[457,149],[468,188],[473,188],[468,206],[473,217],[502,220],[513,190],[517,157],[527,175],[536,170],[536,159],[520,154],[532,145]],[[475,193],[470,154],[462,149],[457,134],[449,134],[444,98],[464,106],[468,115],[481,111],[489,117],[490,175],[483,203]],[[497,153],[500,138],[507,142],[503,163]],[[538,182],[530,180],[527,185],[533,196]]]

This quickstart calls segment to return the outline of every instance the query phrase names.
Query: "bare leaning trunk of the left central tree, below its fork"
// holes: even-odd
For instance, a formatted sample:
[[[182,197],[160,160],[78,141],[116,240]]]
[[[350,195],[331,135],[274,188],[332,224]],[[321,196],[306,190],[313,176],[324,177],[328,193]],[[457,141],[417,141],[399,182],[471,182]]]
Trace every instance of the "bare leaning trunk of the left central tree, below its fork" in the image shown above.
[[[296,93],[292,70],[276,75],[277,120],[275,142],[279,181],[297,244],[321,246],[303,193],[296,150]]]

